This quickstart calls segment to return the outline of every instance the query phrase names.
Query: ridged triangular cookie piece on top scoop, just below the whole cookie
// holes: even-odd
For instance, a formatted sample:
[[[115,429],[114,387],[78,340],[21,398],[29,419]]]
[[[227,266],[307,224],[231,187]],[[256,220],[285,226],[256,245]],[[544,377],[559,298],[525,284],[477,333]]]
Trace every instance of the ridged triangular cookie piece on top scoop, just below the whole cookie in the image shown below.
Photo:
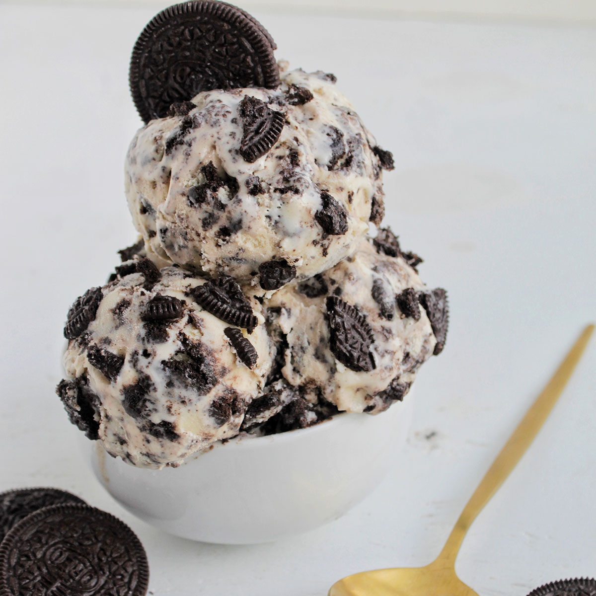
[[[243,126],[240,155],[247,162],[253,163],[265,155],[280,138],[285,116],[256,97],[247,95],[240,102],[240,117]]]

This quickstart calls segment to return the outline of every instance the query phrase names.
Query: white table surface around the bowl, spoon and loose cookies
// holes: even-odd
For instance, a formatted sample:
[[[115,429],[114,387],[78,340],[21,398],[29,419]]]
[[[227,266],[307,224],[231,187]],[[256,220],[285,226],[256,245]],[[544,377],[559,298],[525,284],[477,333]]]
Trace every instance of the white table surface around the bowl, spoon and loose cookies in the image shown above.
[[[582,326],[596,318],[596,30],[257,14],[293,66],[336,73],[382,147],[387,223],[448,288],[408,445],[343,519],[277,544],[173,538],[98,486],[54,395],[66,310],[135,240],[123,157],[143,8],[0,7],[0,491],[54,485],[129,523],[150,593],[322,596],[426,564]],[[596,342],[480,514],[457,570],[480,595],[596,575]],[[432,433],[431,439],[426,439]]]

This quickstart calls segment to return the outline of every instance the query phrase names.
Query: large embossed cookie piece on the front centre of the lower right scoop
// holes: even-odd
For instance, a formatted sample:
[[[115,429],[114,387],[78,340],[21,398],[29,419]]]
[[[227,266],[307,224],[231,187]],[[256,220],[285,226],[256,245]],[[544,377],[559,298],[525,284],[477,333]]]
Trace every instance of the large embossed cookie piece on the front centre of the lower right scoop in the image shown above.
[[[374,334],[367,319],[337,296],[329,296],[326,305],[331,352],[347,368],[370,373],[376,367],[370,352]]]

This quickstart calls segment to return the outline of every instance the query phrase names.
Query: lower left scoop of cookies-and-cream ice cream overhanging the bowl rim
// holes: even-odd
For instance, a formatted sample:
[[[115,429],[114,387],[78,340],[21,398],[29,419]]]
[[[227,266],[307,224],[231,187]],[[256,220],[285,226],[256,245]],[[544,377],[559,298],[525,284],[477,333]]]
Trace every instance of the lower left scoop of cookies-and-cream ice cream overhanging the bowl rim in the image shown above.
[[[159,271],[144,257],[117,271],[69,312],[58,393],[73,423],[139,467],[238,434],[274,356],[260,304],[231,278]]]

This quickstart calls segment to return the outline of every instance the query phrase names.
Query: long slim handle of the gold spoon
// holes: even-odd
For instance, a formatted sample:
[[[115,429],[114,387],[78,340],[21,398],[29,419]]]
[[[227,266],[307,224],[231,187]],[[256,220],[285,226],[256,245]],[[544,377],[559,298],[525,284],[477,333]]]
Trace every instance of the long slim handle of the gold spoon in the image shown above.
[[[462,511],[460,518],[455,523],[455,527],[449,535],[445,547],[443,547],[441,554],[437,558],[436,562],[440,566],[445,566],[445,564],[453,566],[455,564],[455,557],[457,557],[457,553],[460,550],[465,533],[482,508],[488,503],[507,476],[509,476],[511,470],[516,467],[517,462],[519,462],[536,434],[538,434],[552,407],[563,392],[567,381],[569,381],[576,364],[578,364],[592,331],[594,331],[594,325],[588,325],[583,330],[581,336],[579,336],[572,349],[569,350],[569,353],[567,353],[567,356],[565,356],[563,362],[557,368],[557,371],[555,371],[550,381],[548,381],[538,398],[536,398],[536,401],[526,412],[517,429],[514,430],[507,443],[505,443],[501,452],[497,455],[496,460],[493,461],[485,477],[483,477],[478,488],[471,496],[470,501],[465,505],[464,511]]]

